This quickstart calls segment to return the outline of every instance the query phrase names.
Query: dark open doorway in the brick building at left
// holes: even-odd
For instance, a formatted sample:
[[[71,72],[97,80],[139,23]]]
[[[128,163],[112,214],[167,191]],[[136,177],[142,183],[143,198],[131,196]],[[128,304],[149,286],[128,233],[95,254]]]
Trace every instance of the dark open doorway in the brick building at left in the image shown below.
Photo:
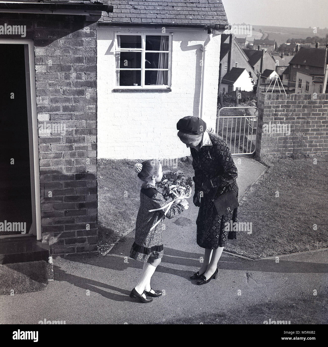
[[[0,223],[32,225],[24,44],[0,44]],[[32,140],[31,140],[32,141]],[[1,231],[0,235],[21,234]]]

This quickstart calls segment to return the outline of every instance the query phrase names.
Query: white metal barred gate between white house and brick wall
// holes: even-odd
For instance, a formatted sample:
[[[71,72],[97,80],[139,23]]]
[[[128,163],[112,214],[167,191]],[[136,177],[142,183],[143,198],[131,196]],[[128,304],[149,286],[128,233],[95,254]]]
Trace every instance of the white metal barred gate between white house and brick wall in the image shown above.
[[[222,110],[227,110],[228,115],[221,116]],[[235,116],[235,113],[243,114]],[[258,115],[259,109],[255,106],[222,107],[219,110],[216,134],[227,143],[232,155],[255,152]]]

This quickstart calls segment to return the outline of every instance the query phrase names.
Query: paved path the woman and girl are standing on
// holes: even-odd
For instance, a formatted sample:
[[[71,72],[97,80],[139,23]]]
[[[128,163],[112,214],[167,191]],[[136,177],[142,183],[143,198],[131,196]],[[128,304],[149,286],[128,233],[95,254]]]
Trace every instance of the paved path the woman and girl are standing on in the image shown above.
[[[249,158],[242,158],[237,166],[241,196],[264,167]],[[224,253],[218,279],[196,286],[196,281],[189,279],[203,256],[195,240],[196,213],[191,203],[181,217],[166,222],[165,256],[151,283],[154,289],[165,290],[165,295],[152,303],[136,303],[128,296],[143,265],[128,258],[134,241],[131,233],[107,256],[55,259],[55,280],[43,291],[0,296],[0,324],[35,324],[45,318],[66,324],[152,324],[181,322],[186,317],[199,323],[204,314],[229,314],[268,300],[297,300],[313,289],[320,292],[326,285],[328,251],[283,257],[279,263],[271,259],[250,261]]]

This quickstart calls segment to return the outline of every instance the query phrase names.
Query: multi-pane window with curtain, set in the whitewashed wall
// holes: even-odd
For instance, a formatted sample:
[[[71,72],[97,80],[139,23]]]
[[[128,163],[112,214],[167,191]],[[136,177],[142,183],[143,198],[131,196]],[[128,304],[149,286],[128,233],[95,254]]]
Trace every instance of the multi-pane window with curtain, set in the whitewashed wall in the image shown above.
[[[168,87],[171,35],[115,34],[116,85]]]

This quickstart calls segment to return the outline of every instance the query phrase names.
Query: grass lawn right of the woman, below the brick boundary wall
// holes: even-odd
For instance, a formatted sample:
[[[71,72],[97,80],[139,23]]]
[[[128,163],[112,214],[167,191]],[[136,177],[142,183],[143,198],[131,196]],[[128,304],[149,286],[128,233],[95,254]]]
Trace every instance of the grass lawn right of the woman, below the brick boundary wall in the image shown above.
[[[328,162],[276,158],[239,201],[239,231],[226,251],[251,257],[276,256],[328,247]]]

